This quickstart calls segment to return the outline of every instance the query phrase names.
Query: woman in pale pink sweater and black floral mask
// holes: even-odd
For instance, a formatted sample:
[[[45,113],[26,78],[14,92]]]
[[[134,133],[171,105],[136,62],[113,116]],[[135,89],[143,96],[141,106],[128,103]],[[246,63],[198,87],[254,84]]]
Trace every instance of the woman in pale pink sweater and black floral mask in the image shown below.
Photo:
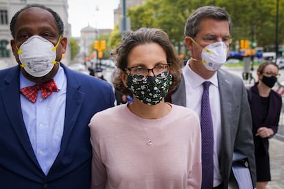
[[[133,95],[133,103],[91,119],[92,188],[200,188],[198,116],[164,101],[179,83],[182,67],[167,34],[153,28],[131,31],[113,56],[115,89]]]

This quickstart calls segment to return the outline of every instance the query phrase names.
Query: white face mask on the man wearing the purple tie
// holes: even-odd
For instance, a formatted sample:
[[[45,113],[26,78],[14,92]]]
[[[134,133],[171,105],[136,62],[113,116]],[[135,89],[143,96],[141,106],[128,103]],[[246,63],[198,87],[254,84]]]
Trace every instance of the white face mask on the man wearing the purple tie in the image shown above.
[[[191,38],[191,40],[199,47],[201,47],[195,40],[193,40],[193,38]],[[201,61],[207,70],[217,71],[217,69],[221,68],[225,64],[228,47],[224,42],[214,42],[204,48],[201,48],[203,49],[201,54]],[[192,60],[196,59],[192,58]]]

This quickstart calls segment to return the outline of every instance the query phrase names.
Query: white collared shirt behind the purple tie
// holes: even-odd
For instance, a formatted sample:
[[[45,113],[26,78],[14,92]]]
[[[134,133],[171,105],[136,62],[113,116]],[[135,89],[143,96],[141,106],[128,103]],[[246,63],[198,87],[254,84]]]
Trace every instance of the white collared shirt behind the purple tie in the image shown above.
[[[218,161],[218,154],[220,153],[220,141],[221,141],[221,105],[220,94],[218,90],[217,72],[210,79],[203,79],[198,74],[193,72],[187,65],[182,68],[182,74],[185,77],[185,92],[187,98],[187,108],[194,110],[200,118],[201,114],[201,101],[204,81],[210,81],[209,87],[209,100],[211,115],[213,119],[213,132],[214,132],[214,182],[213,186],[219,186],[222,183],[222,177],[220,175],[220,166]]]

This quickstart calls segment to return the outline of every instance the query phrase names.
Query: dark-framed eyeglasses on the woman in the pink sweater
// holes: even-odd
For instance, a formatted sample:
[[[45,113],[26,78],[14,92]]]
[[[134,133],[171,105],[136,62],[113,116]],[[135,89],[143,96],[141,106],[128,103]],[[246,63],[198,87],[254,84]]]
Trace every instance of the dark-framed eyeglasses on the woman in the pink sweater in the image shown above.
[[[146,66],[133,66],[126,68],[124,71],[129,71],[130,75],[138,75],[140,77],[135,77],[138,81],[145,80],[149,71],[152,71],[154,77],[158,79],[164,79],[169,75],[169,63],[168,64],[158,64],[154,68],[149,69]]]

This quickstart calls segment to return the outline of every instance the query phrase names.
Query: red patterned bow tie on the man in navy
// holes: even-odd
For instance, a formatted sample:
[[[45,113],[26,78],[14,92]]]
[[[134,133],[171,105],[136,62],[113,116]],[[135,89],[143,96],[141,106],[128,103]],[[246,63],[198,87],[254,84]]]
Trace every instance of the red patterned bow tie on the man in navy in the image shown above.
[[[32,101],[32,103],[36,102],[38,90],[41,90],[41,97],[43,97],[43,99],[51,95],[52,92],[58,92],[54,79],[51,79],[45,84],[36,84],[34,86],[27,86],[20,89],[21,94],[23,94],[29,101]]]

